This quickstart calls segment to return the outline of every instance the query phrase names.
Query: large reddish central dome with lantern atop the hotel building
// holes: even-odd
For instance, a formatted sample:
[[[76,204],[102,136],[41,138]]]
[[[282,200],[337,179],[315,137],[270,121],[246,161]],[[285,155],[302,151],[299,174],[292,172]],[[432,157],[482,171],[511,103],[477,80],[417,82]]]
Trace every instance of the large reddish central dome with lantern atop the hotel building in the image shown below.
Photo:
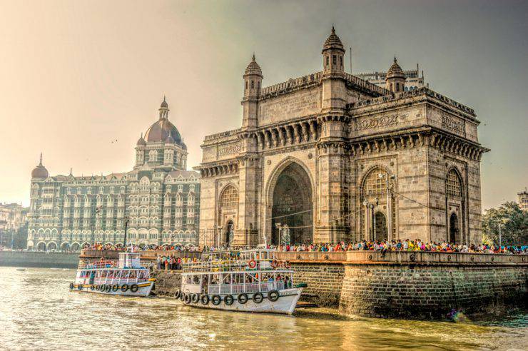
[[[187,146],[178,128],[168,120],[170,110],[165,96],[158,111],[158,121],[148,127],[145,136],[142,134],[136,143],[135,169],[185,170]]]

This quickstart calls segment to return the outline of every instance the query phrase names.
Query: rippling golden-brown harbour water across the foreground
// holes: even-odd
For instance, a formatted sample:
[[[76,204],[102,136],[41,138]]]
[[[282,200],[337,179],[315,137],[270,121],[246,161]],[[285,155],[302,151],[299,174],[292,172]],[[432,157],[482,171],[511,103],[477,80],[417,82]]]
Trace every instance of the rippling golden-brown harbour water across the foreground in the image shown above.
[[[0,267],[0,349],[510,349],[528,345],[528,314],[481,322],[348,319],[198,310],[170,298],[70,292],[75,270]]]

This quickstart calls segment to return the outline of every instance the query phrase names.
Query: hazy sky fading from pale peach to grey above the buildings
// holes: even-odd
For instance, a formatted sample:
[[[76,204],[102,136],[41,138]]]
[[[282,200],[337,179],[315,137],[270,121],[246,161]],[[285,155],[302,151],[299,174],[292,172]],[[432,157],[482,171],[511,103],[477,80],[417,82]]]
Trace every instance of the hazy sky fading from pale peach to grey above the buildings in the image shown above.
[[[163,95],[196,166],[205,135],[240,126],[253,51],[264,86],[319,71],[332,23],[355,73],[396,54],[474,108],[492,149],[483,208],[514,200],[528,186],[527,19],[528,1],[504,0],[0,0],[0,201],[29,203],[41,151],[51,175],[130,171]]]

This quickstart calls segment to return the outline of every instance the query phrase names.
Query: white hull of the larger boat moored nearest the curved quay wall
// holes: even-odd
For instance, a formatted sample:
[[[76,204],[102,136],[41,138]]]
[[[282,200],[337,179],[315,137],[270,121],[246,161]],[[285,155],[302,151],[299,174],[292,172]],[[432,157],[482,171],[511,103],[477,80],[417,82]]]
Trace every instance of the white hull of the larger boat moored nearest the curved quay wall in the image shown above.
[[[268,299],[268,293],[263,292],[264,299],[262,302],[257,303],[253,300],[253,294],[248,294],[248,302],[241,304],[238,302],[236,295],[233,295],[233,304],[226,305],[224,297],[221,295],[222,300],[220,304],[214,305],[212,301],[208,304],[203,304],[201,301],[198,302],[182,302],[184,305],[191,307],[210,308],[213,310],[227,310],[227,311],[239,311],[239,312],[263,312],[263,313],[282,313],[291,315],[295,306],[300,298],[300,294],[303,288],[291,288],[279,291],[279,298],[277,301],[271,301]]]

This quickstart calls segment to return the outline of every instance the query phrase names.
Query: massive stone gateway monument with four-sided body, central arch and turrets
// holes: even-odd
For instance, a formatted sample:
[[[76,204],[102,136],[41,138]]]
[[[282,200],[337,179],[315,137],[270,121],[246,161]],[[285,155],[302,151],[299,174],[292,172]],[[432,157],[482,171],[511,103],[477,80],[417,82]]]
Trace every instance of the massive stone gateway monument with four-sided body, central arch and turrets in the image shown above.
[[[323,71],[263,86],[243,75],[241,128],[205,136],[200,245],[419,238],[480,243],[480,159],[472,108],[345,73],[332,32]]]

